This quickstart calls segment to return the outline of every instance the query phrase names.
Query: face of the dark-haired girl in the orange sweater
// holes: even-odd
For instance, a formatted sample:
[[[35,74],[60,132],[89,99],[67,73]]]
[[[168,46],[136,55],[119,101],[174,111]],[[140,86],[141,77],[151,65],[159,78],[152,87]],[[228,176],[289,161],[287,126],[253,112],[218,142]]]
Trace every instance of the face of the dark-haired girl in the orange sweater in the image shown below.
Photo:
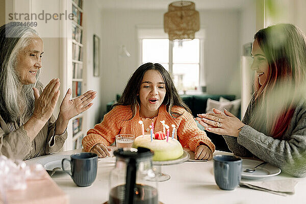
[[[140,116],[152,118],[158,115],[166,95],[166,85],[158,70],[147,70],[140,84]]]

